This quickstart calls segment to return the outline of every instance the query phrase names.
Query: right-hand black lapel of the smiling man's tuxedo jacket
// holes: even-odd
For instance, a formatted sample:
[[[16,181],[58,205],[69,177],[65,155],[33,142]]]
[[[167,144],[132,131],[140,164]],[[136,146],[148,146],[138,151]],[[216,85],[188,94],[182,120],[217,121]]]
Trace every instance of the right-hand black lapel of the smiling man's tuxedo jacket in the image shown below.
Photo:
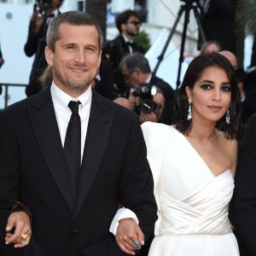
[[[79,213],[101,165],[102,157],[108,145],[112,122],[113,110],[111,105],[93,90],[73,218]]]

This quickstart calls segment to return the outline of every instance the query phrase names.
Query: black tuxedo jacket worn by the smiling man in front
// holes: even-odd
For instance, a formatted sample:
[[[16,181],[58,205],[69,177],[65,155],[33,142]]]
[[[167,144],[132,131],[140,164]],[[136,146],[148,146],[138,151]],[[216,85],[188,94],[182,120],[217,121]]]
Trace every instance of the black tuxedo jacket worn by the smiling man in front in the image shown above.
[[[153,178],[137,116],[94,90],[78,195],[73,200],[50,90],[0,113],[0,255],[9,208],[23,202],[33,215],[31,256],[121,253],[109,233],[121,202],[137,214],[147,237],[154,230]]]

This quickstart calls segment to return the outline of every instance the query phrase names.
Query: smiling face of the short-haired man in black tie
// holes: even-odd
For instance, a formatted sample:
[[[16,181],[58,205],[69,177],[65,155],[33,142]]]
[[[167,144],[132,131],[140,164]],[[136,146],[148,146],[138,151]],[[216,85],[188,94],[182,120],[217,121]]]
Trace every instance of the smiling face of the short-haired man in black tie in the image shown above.
[[[79,96],[96,77],[101,62],[101,50],[95,26],[73,26],[67,23],[59,28],[60,39],[55,52],[45,49],[45,57],[53,67],[55,84],[69,95]]]

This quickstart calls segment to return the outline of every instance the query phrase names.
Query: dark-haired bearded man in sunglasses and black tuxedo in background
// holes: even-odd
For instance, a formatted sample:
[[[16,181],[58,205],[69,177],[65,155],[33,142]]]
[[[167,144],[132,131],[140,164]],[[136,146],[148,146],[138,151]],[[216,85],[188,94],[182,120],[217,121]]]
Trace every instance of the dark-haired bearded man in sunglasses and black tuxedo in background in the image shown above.
[[[144,53],[143,49],[133,41],[139,33],[141,18],[136,11],[127,9],[117,16],[115,23],[119,36],[106,42],[102,49],[102,58],[112,64],[114,83],[119,88],[120,96],[124,96],[125,84],[119,73],[119,63],[125,55],[133,52]]]

